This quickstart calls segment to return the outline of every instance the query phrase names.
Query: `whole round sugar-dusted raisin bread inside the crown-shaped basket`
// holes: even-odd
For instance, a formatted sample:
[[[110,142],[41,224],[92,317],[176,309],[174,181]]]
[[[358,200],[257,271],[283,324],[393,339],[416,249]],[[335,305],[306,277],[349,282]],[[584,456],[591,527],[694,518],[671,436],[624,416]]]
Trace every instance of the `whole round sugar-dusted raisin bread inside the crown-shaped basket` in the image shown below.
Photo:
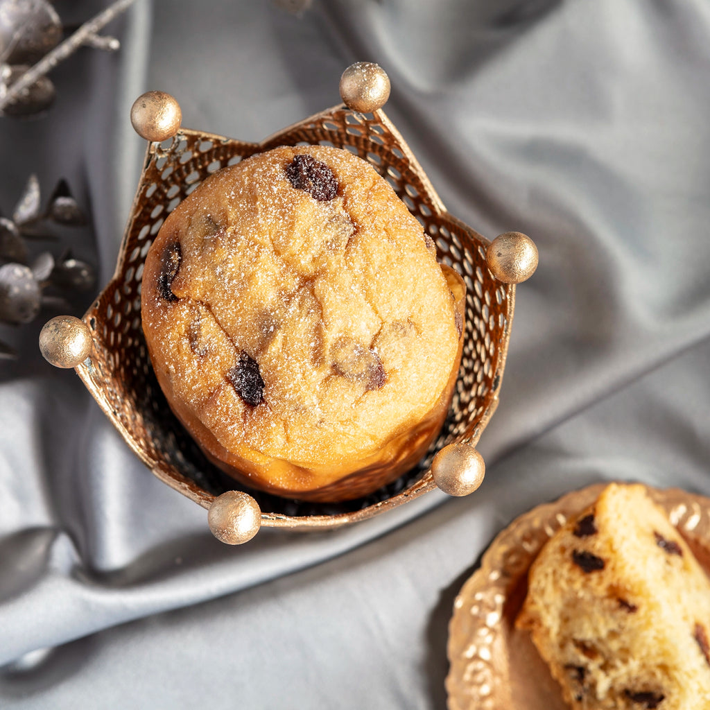
[[[348,151],[275,148],[214,173],[165,220],[141,299],[170,407],[251,486],[357,497],[358,476],[393,479],[442,423],[452,290],[417,219]]]

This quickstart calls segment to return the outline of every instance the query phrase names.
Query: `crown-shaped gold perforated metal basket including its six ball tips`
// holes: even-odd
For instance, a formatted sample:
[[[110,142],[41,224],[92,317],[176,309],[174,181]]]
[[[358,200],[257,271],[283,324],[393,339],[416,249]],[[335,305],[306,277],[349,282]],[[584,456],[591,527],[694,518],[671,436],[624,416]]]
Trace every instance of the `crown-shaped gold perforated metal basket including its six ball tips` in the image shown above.
[[[225,542],[244,542],[259,525],[336,528],[399,506],[437,484],[454,495],[468,493],[478,487],[483,476],[482,459],[473,447],[498,403],[513,319],[514,283],[535,270],[537,251],[528,237],[517,232],[501,235],[489,244],[452,217],[403,138],[381,111],[383,100],[363,104],[348,93],[345,80],[353,75],[356,89],[366,94],[368,87],[372,92],[373,76],[381,81],[383,72],[376,65],[363,62],[349,67],[341,82],[341,93],[350,107],[341,104],[323,111],[262,143],[180,129],[180,109],[175,99],[160,92],[145,94],[150,100],[141,104],[145,109],[143,120],[140,114],[136,117],[132,113],[131,117],[136,130],[152,142],[114,276],[83,320],[53,319],[40,336],[45,357],[58,366],[76,368],[109,420],[155,476],[200,506],[217,511],[214,518],[219,520],[210,520],[210,527]],[[352,85],[351,81],[351,88]],[[388,82],[386,88],[388,93]],[[138,101],[134,109],[136,105]],[[156,106],[163,110],[163,119],[166,110],[173,111],[168,111],[172,121],[168,121],[163,133],[148,130],[155,126],[156,117],[160,118]],[[355,108],[368,109],[368,113]],[[170,137],[164,139],[165,133]],[[464,278],[464,349],[452,408],[441,434],[419,466],[365,498],[344,503],[305,503],[246,488],[243,490],[248,496],[227,493],[225,498],[223,494],[239,490],[239,484],[207,461],[187,435],[170,411],[151,368],[141,327],[143,262],[168,213],[210,174],[270,148],[304,144],[344,148],[370,163],[390,182],[420,220],[425,234],[435,241],[439,261]],[[432,472],[432,459],[437,452]],[[474,482],[469,480],[471,476]],[[224,504],[219,510],[215,506],[219,496],[223,502],[228,501],[228,512],[235,513],[234,506],[239,503],[241,508],[235,519],[225,520]],[[240,516],[242,528],[245,525],[245,500],[251,506],[247,507],[253,520],[246,524],[246,534],[236,530]],[[234,530],[219,535],[217,529],[227,524]]]

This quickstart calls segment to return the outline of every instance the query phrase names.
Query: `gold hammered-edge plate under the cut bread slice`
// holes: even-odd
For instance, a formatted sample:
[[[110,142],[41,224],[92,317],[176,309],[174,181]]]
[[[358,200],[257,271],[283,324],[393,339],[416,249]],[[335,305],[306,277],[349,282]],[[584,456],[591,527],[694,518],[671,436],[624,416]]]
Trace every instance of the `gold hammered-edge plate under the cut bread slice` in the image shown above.
[[[528,633],[515,629],[515,617],[527,592],[528,569],[542,545],[591,506],[606,485],[533,508],[488,547],[481,567],[454,601],[446,679],[449,710],[568,710]],[[710,572],[710,498],[678,488],[647,491]]]

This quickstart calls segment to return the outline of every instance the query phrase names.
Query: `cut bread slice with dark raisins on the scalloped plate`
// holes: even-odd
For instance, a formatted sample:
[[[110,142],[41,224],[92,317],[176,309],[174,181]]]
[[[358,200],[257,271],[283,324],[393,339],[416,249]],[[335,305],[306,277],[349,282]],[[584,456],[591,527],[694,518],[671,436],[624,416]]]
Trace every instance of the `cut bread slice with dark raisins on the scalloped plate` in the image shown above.
[[[638,484],[545,544],[516,621],[574,710],[710,708],[710,582]]]

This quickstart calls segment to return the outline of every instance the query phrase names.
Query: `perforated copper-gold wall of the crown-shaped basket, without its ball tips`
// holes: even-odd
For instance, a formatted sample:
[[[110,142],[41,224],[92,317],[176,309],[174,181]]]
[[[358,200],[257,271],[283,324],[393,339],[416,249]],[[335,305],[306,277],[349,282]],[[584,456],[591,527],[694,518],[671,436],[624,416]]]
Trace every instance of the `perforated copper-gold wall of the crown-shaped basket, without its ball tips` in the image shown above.
[[[425,461],[380,491],[346,503],[303,503],[242,488],[209,463],[168,408],[153,374],[141,328],[141,276],[146,253],[168,213],[197,185],[226,165],[277,146],[329,145],[367,160],[407,204],[437,245],[439,261],[464,278],[466,331],[454,401],[442,434]],[[151,143],[116,272],[84,315],[94,351],[78,366],[84,384],[138,457],[169,486],[204,508],[226,490],[248,490],[262,525],[330,528],[369,518],[432,490],[429,468],[445,444],[476,444],[498,403],[508,349],[515,287],[486,266],[488,241],[452,217],[382,111],[359,114],[343,106],[305,119],[262,143],[245,143],[181,129]]]

